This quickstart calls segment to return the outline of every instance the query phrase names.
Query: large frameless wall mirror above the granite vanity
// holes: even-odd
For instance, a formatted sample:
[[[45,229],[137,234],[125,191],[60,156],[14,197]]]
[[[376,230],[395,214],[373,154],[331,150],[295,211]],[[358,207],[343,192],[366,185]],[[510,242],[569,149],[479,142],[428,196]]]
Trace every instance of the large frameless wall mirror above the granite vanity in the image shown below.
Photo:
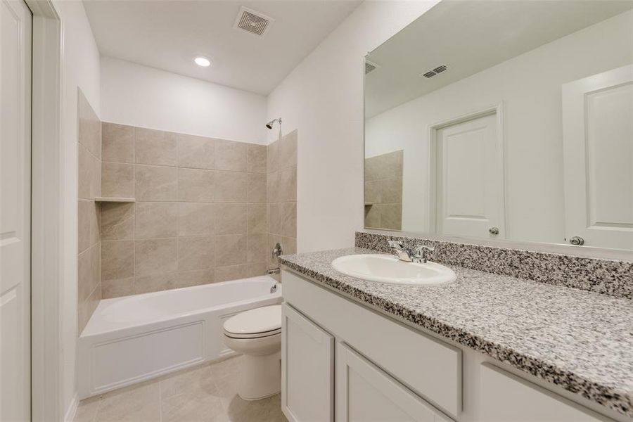
[[[633,250],[633,2],[441,1],[366,56],[365,226]]]

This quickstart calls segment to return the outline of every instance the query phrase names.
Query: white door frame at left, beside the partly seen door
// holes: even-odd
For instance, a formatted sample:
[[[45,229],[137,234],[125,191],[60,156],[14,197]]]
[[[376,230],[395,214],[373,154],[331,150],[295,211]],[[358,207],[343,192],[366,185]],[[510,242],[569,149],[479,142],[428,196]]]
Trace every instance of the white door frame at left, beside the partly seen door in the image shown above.
[[[31,186],[31,417],[63,420],[63,22],[53,0],[33,13]]]

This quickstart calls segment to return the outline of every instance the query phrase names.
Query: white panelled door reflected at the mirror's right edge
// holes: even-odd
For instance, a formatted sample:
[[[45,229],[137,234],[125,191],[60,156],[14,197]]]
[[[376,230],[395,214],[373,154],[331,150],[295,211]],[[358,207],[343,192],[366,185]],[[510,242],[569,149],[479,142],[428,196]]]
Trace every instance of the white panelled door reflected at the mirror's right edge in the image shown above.
[[[565,237],[633,250],[633,65],[563,85]]]

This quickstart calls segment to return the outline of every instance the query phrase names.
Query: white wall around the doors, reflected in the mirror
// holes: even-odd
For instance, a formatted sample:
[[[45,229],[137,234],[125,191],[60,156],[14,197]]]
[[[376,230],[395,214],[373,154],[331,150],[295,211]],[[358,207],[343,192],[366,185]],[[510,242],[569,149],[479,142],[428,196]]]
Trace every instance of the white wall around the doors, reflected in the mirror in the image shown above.
[[[563,243],[561,85],[633,63],[633,11],[367,120],[366,156],[404,149],[402,229],[428,231],[428,127],[503,101],[506,233]]]

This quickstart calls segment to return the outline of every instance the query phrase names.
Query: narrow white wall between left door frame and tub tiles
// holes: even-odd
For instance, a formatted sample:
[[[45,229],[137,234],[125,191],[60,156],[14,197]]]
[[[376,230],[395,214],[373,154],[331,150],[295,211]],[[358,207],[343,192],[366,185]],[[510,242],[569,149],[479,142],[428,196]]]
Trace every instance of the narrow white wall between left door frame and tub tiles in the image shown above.
[[[55,1],[63,27],[62,409],[75,397],[77,347],[77,87],[99,113],[99,51],[81,1]]]

